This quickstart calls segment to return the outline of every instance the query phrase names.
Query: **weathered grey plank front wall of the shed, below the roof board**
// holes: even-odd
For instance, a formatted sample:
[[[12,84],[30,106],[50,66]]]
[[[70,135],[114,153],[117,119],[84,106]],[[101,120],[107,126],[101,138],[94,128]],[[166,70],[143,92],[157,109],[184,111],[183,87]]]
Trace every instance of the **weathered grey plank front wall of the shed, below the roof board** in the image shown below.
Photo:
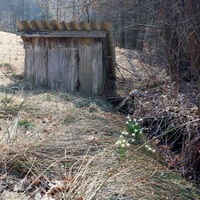
[[[29,38],[26,76],[39,86],[100,94],[106,82],[103,38]]]

